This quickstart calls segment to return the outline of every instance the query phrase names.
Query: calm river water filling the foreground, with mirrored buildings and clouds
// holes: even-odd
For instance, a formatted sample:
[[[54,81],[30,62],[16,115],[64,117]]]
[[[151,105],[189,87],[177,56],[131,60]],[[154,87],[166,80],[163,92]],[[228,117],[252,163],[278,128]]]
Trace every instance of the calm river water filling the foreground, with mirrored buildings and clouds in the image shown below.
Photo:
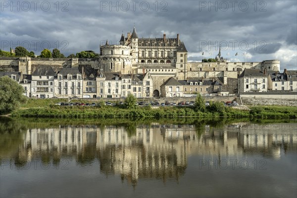
[[[0,118],[0,197],[297,197],[297,123]]]

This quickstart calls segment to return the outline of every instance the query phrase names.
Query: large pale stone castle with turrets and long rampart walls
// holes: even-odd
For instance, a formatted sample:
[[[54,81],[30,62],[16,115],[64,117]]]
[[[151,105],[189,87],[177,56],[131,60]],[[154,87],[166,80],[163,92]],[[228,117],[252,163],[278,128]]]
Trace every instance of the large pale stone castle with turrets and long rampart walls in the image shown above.
[[[36,67],[51,66],[58,73],[61,68],[78,68],[85,70],[85,78],[100,72],[113,72],[127,75],[144,75],[149,72],[153,79],[153,96],[159,97],[160,86],[169,78],[176,80],[212,80],[217,79],[232,92],[233,82],[245,68],[256,68],[264,71],[279,71],[279,60],[261,62],[227,62],[221,53],[216,56],[217,62],[188,62],[188,51],[179,34],[176,38],[139,38],[134,27],[133,32],[123,33],[119,45],[100,46],[99,58],[30,58],[0,57],[1,71],[32,74]],[[93,70],[97,70],[94,72]],[[88,72],[89,71],[89,72]],[[95,76],[94,76],[95,75]],[[229,87],[228,88],[228,84]]]

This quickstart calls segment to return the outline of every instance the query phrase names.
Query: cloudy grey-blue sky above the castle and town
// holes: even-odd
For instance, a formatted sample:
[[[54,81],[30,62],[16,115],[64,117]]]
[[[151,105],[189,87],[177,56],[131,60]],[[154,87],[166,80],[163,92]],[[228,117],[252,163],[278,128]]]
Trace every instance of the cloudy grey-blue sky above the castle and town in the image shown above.
[[[2,50],[99,53],[134,25],[139,38],[179,33],[192,62],[215,57],[221,45],[230,61],[279,59],[281,70],[297,69],[296,0],[0,0]]]

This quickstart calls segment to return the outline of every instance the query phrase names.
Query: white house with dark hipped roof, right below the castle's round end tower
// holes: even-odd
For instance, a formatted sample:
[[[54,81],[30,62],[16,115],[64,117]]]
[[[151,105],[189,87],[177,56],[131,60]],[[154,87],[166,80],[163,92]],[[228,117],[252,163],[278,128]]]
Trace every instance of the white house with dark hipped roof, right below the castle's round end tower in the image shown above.
[[[238,78],[238,93],[267,92],[268,76],[259,69],[245,69]]]

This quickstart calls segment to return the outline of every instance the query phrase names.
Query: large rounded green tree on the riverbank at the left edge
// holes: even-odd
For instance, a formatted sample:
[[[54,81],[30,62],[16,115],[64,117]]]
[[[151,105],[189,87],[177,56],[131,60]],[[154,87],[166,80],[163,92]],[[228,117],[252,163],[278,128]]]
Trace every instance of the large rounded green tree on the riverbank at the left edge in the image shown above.
[[[0,114],[9,113],[26,102],[24,88],[8,76],[0,77]]]

